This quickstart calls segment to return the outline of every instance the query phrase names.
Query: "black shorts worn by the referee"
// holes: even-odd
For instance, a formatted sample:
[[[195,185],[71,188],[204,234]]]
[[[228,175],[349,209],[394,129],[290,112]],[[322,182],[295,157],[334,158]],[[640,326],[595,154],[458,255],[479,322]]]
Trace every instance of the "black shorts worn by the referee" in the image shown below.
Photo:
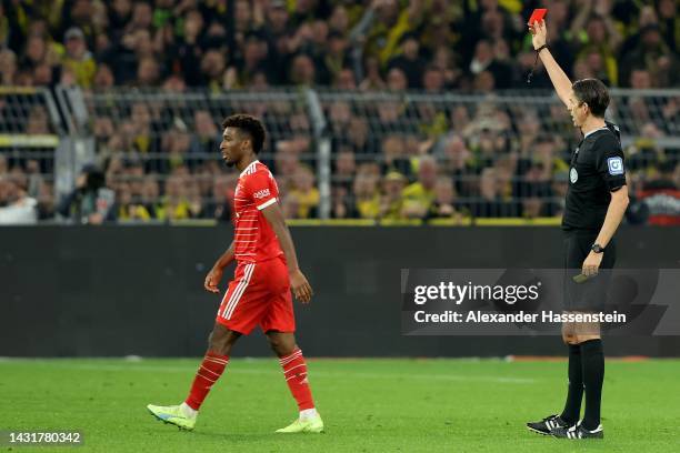
[[[613,239],[607,244],[603,252],[598,275],[583,283],[573,281],[573,276],[581,273],[583,261],[590,253],[590,248],[597,236],[598,231],[564,231],[564,310],[567,311],[600,311],[607,303],[611,269],[617,260]]]

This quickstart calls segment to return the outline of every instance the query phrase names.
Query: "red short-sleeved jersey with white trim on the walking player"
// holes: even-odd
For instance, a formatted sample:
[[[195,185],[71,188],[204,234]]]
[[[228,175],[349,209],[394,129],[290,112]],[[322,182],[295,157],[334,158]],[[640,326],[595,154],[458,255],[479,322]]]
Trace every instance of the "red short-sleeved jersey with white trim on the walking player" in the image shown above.
[[[254,161],[241,172],[233,195],[237,261],[257,263],[283,254],[277,235],[260,212],[276,203],[278,197],[277,181],[267,165]]]

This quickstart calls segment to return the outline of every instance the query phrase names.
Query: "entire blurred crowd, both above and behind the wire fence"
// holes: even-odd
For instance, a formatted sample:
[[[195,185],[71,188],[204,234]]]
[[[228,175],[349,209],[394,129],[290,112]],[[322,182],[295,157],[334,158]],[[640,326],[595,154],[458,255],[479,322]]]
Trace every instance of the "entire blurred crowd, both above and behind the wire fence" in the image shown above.
[[[527,89],[536,57],[526,18],[534,7],[549,9],[550,48],[572,79],[596,77],[610,87],[641,90],[680,82],[674,0],[0,4],[3,85],[79,85],[98,93],[154,88],[173,95],[192,88],[257,92],[280,85],[434,95]],[[550,87],[539,64],[530,88]],[[663,102],[631,99],[611,108],[614,117],[616,109],[627,109],[638,124],[624,130],[636,135],[628,155],[636,191],[650,184],[680,188],[677,150],[654,143],[680,134],[680,100]],[[324,102],[332,138],[332,218],[462,221],[561,213],[569,155],[578,141],[566,109],[423,105],[412,112],[397,101]],[[317,217],[310,121],[280,105],[273,118],[271,108],[249,111],[263,117],[270,131],[279,130],[263,160],[281,180],[283,209],[289,218]],[[53,188],[50,181],[29,183],[30,160],[6,159],[0,205],[26,197],[40,207],[41,219],[57,214],[90,223],[230,218],[237,175],[217,159],[221,118],[214,110],[197,108],[179,118],[140,101],[116,114],[92,109],[90,118],[98,168],[83,170],[73,193],[47,202]],[[44,109],[33,109],[28,119],[26,133],[49,132]],[[44,171],[44,164],[39,168]]]

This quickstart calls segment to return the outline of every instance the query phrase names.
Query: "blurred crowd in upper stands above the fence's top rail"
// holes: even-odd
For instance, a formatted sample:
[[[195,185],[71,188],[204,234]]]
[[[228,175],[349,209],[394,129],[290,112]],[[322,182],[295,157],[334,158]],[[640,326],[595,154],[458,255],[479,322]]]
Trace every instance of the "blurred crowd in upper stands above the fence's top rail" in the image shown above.
[[[2,84],[524,87],[538,6],[576,78],[678,84],[674,0],[3,0]]]

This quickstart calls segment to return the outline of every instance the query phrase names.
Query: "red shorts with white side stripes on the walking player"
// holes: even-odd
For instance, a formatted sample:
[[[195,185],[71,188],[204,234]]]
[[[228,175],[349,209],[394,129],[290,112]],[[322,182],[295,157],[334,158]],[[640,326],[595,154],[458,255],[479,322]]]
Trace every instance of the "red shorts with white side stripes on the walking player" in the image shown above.
[[[263,332],[294,332],[290,279],[283,256],[239,262],[216,320],[244,335],[258,325]]]

